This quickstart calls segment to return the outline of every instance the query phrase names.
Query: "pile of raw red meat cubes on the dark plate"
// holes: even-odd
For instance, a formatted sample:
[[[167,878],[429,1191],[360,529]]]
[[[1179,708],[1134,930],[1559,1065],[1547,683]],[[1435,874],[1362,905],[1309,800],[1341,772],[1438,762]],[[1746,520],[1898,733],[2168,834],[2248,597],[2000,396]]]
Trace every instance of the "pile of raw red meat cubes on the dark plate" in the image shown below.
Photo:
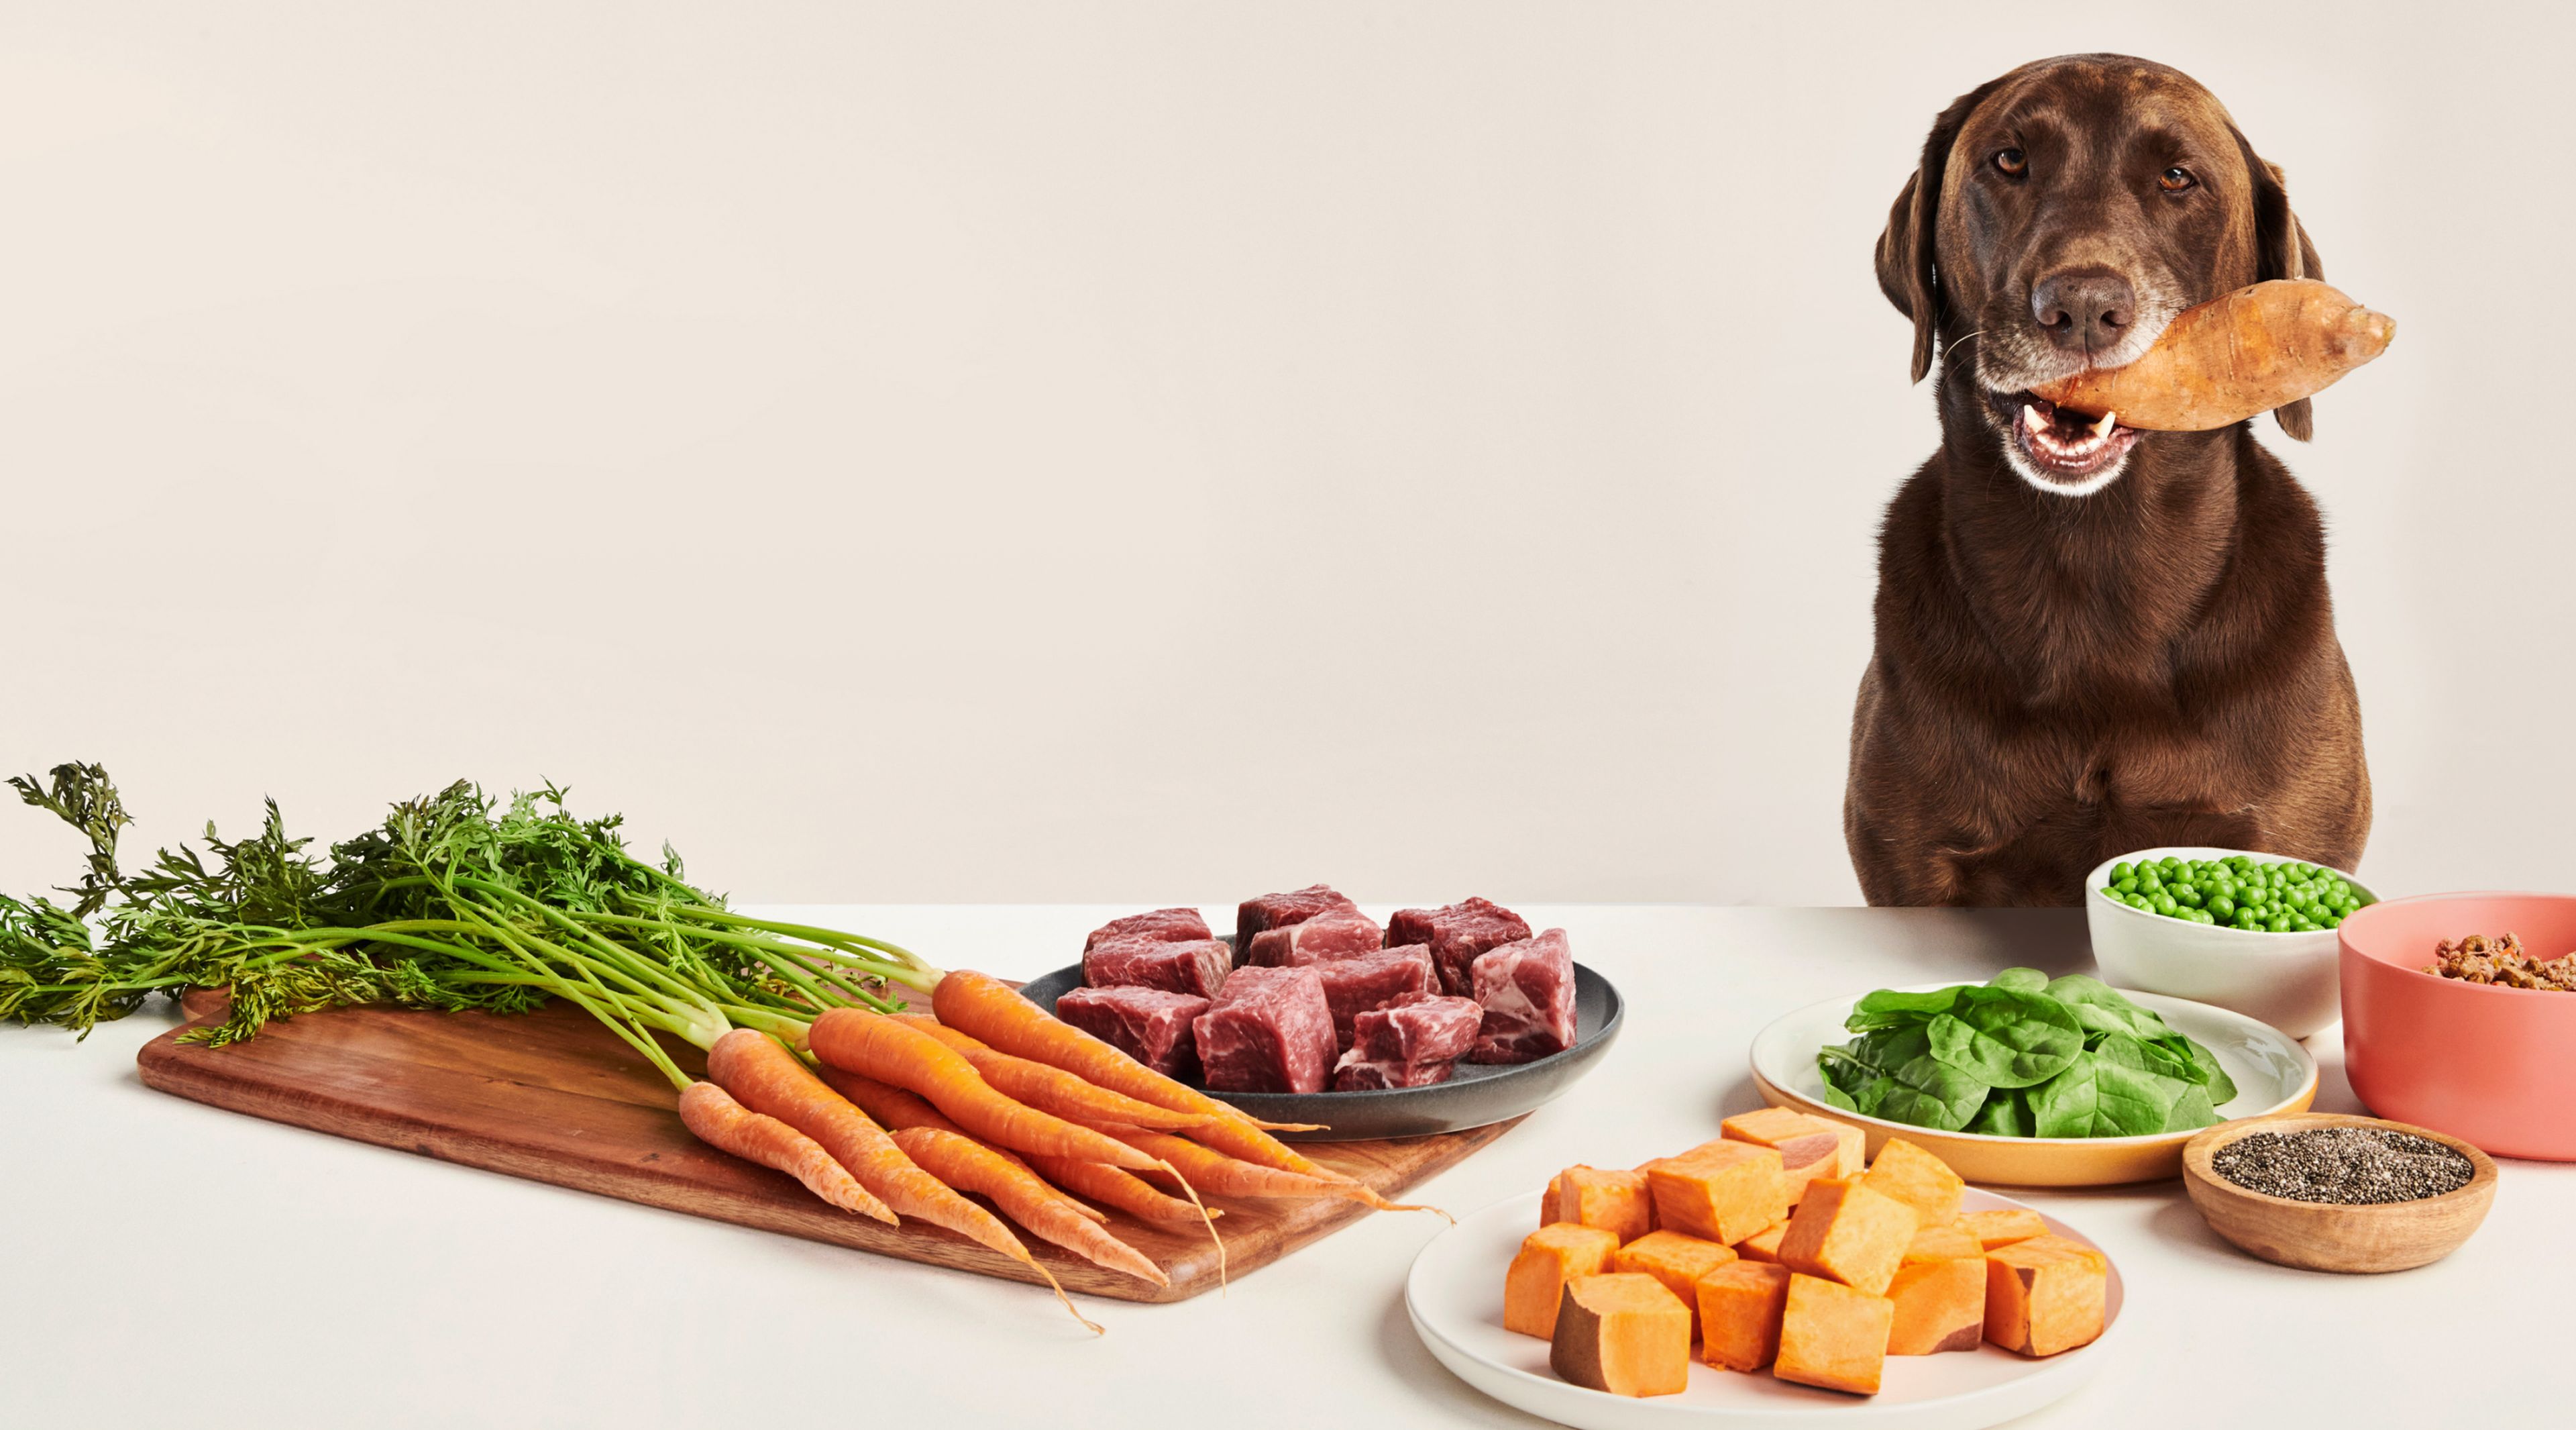
[[[1218,1092],[1427,1087],[1458,1062],[1574,1046],[1566,930],[1533,935],[1492,899],[1399,910],[1386,928],[1309,884],[1244,899],[1234,948],[1198,910],[1110,920],[1082,943],[1056,1013]]]

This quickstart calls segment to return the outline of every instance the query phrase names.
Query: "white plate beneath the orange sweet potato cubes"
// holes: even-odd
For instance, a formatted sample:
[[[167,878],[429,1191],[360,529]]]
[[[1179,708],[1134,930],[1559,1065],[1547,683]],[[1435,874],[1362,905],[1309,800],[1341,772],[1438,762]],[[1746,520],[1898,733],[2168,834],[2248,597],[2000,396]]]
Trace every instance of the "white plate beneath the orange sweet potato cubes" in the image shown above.
[[[2022,1203],[1968,1188],[1960,1211],[2022,1208]],[[2027,1211],[2027,1208],[2025,1208]],[[2071,1242],[2092,1242],[2045,1216],[2048,1229]],[[1690,1363],[1690,1389],[1677,1397],[1615,1397],[1556,1378],[1548,1342],[1502,1330],[1502,1278],[1520,1239],[1538,1226],[1538,1193],[1458,1221],[1432,1237],[1404,1278],[1404,1309],[1414,1335],[1461,1381],[1530,1415],[1582,1430],[1638,1430],[1710,1425],[1723,1430],[1811,1430],[1826,1422],[1873,1430],[1978,1430],[2076,1391],[2120,1340],[2120,1268],[2110,1268],[2110,1306],[2102,1337],[2081,1350],[2027,1360],[1994,1345],[1942,1355],[1888,1355],[1875,1397],[1847,1397],[1798,1386],[1759,1371],[1752,1376]]]

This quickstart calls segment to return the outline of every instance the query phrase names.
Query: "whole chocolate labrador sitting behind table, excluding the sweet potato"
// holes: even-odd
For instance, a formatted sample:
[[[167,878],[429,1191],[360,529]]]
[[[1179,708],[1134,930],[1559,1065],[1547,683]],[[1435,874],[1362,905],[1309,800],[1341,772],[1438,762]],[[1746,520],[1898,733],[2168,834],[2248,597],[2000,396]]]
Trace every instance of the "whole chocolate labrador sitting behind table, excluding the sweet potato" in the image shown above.
[[[2280,170],[2164,64],[2043,59],[1932,124],[1878,240],[1942,446],[1888,502],[1852,711],[1842,827],[1873,904],[2074,904],[2151,845],[2360,858],[2316,505],[2251,423],[2141,433],[2027,392],[2318,276]],[[2275,420],[2311,433],[2308,402]]]

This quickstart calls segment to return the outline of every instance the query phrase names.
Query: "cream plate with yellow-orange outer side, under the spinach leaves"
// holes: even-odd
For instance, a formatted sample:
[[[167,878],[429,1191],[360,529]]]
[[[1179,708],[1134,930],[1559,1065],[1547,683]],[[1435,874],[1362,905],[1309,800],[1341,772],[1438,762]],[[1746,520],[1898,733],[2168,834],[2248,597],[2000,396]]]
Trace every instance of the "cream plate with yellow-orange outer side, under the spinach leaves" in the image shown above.
[[[1958,987],[1958,982],[1914,984],[1904,992],[1945,987]],[[2316,1059],[2280,1028],[2184,997],[2136,989],[2120,989],[2120,995],[2161,1015],[2169,1028],[2218,1056],[2218,1067],[2236,1082],[2236,1098],[2218,1108],[2223,1118],[2303,1113],[2316,1100]],[[1932,1152],[1971,1183],[2110,1188],[2182,1175],[2182,1147],[2200,1129],[2161,1131],[2156,1136],[1989,1136],[1976,1131],[1932,1131],[1927,1126],[1865,1118],[1834,1108],[1824,1100],[1824,1074],[1816,1069],[1816,1049],[1852,1041],[1855,1033],[1847,1033],[1842,1020],[1852,1015],[1852,1005],[1860,997],[1865,995],[1811,1002],[1762,1028],[1752,1056],[1754,1085],[1762,1087],[1762,1095],[1772,1105],[1857,1126],[1870,1136],[1870,1157],[1878,1157],[1878,1147],[1886,1139],[1901,1136]]]

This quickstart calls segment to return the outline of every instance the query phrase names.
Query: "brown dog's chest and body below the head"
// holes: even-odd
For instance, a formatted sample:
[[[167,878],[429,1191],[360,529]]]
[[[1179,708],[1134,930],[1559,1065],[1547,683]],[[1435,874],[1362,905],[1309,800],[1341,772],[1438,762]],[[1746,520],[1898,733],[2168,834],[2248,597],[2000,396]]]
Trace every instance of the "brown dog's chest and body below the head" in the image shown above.
[[[2303,729],[2354,716],[2324,531],[2280,461],[2202,433],[2069,500],[1960,435],[1880,549],[1847,819],[1870,897],[2063,902],[2102,850],[2166,843],[2326,858],[2339,819],[2275,794],[2347,758]],[[1868,845],[1937,853],[1873,881]]]

